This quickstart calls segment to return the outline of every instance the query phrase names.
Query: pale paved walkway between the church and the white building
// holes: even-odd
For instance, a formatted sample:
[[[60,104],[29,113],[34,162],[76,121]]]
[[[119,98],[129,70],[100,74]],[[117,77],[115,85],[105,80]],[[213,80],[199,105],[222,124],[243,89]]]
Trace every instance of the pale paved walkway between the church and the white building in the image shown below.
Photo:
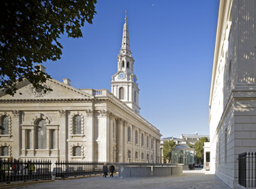
[[[56,180],[52,182],[21,186],[14,188],[26,189],[62,189],[62,188],[104,188],[104,189],[230,189],[215,175],[205,174],[203,170],[184,171],[181,177],[152,177],[152,178],[114,178],[91,177],[69,180]]]

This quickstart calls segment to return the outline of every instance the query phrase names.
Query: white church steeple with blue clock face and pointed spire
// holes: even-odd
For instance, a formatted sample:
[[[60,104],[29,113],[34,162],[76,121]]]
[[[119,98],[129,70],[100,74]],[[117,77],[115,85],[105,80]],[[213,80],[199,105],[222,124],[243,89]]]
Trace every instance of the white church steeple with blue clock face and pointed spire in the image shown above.
[[[134,59],[130,51],[127,18],[123,24],[123,39],[117,56],[117,73],[112,76],[111,92],[118,99],[139,114],[139,87],[137,77],[133,74]]]

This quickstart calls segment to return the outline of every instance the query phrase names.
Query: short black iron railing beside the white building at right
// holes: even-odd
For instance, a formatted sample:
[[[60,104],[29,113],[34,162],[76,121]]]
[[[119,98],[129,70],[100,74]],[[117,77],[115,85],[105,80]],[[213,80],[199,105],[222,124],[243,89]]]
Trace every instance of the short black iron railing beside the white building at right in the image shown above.
[[[256,153],[238,155],[238,184],[256,187]]]

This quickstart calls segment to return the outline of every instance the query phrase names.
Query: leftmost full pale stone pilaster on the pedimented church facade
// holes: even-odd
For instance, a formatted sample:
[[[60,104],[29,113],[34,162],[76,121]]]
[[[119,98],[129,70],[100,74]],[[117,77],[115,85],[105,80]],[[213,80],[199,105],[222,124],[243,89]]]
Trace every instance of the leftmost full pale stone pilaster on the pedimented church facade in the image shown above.
[[[18,159],[21,154],[21,128],[20,128],[20,112],[18,110],[12,111],[13,117],[11,120],[11,135],[14,136],[13,145],[11,146],[11,153],[14,159]]]

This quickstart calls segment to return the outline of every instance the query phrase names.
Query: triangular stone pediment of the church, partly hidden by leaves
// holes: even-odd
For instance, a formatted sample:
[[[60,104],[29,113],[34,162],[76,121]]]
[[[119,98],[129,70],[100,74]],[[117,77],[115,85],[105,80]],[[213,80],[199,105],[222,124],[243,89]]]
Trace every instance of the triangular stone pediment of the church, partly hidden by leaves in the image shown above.
[[[47,87],[50,87],[53,91],[47,91],[43,93],[42,90],[37,90],[29,82],[22,81],[18,84],[17,93],[14,96],[0,95],[0,99],[93,99],[84,91],[78,90],[74,87],[66,85],[59,80],[46,80],[44,83]]]

